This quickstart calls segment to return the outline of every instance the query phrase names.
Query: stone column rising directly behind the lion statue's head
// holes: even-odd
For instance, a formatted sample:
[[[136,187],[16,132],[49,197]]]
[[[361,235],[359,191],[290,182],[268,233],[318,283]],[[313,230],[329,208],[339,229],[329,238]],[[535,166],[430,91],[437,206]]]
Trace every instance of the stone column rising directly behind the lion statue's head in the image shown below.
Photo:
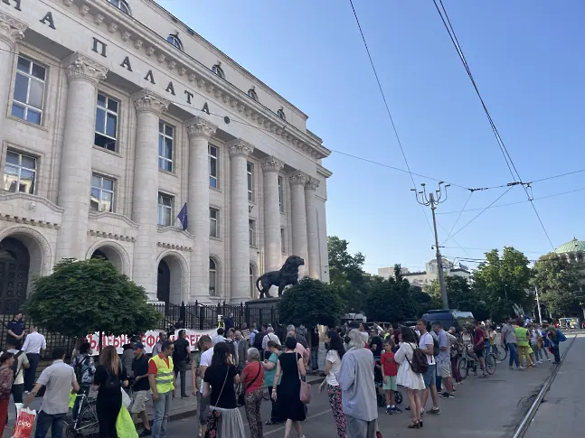
[[[307,210],[305,206],[305,184],[309,177],[303,172],[293,172],[289,175],[291,194],[291,220],[293,232],[293,254],[302,257],[305,265],[298,269],[298,277],[308,275],[308,244],[307,244]]]

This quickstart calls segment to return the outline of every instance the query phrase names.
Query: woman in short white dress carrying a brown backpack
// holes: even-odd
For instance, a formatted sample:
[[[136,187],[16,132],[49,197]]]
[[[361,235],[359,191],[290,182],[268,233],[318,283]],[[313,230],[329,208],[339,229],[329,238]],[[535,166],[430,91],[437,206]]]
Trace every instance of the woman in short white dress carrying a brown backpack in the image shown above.
[[[394,356],[394,360],[400,364],[396,384],[405,387],[409,396],[412,424],[409,424],[408,427],[410,429],[419,429],[422,427],[420,390],[425,388],[425,381],[422,378],[422,374],[415,373],[410,368],[414,349],[418,347],[419,342],[416,333],[409,327],[401,328],[401,339],[401,348],[396,351]]]

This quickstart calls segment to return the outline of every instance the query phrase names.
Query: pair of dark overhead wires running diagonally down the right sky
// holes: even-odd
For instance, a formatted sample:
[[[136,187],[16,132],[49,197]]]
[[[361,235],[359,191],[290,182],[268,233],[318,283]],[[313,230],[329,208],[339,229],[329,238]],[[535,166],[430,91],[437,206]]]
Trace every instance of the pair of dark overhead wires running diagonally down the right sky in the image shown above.
[[[530,205],[532,206],[532,208],[534,210],[534,214],[536,215],[536,218],[540,222],[541,227],[543,228],[544,234],[546,235],[546,238],[548,239],[549,243],[551,244],[551,247],[554,248],[554,245],[552,245],[552,240],[551,240],[551,238],[549,236],[549,233],[546,230],[546,228],[544,227],[543,219],[541,219],[541,215],[538,213],[538,210],[536,210],[536,207],[534,206],[534,202],[533,202],[530,194],[528,193],[528,189],[526,189],[526,186],[522,182],[523,180],[520,177],[520,173],[518,172],[518,169],[514,165],[514,161],[512,160],[512,157],[510,156],[507,148],[505,147],[504,140],[502,139],[502,137],[499,134],[497,128],[495,127],[494,120],[492,119],[492,116],[490,115],[489,111],[487,110],[486,103],[484,102],[484,99],[482,98],[481,93],[479,92],[479,89],[477,88],[476,80],[473,78],[473,74],[471,73],[471,70],[469,69],[469,66],[467,64],[467,60],[465,59],[465,55],[463,54],[463,50],[461,49],[461,45],[459,44],[457,35],[455,33],[455,29],[451,25],[451,21],[448,18],[447,9],[445,8],[445,5],[443,5],[442,0],[439,0],[439,3],[441,5],[441,8],[442,8],[443,13],[445,14],[445,16],[443,16],[443,14],[441,13],[441,10],[439,9],[439,5],[437,5],[437,0],[433,0],[433,4],[437,8],[437,12],[439,13],[439,16],[441,18],[441,21],[445,25],[445,29],[447,30],[447,33],[449,35],[449,38],[451,39],[451,42],[455,46],[455,49],[457,50],[458,55],[459,55],[459,59],[461,60],[461,62],[463,62],[463,65],[464,65],[464,67],[465,67],[465,69],[467,71],[467,76],[471,80],[471,83],[473,84],[473,87],[476,90],[476,95],[479,98],[482,107],[484,108],[484,112],[486,113],[486,117],[487,117],[487,119],[489,121],[489,124],[492,127],[492,130],[494,131],[495,139],[496,139],[496,141],[497,141],[497,143],[498,143],[498,145],[500,147],[500,151],[502,152],[502,154],[504,154],[504,159],[505,159],[505,163],[506,163],[506,165],[508,167],[508,170],[512,174],[512,178],[514,179],[514,182],[517,181],[517,182],[520,182],[522,184],[522,187],[524,189],[524,192],[526,193],[526,197],[528,198],[528,200],[530,200]],[[447,19],[447,21],[446,21],[446,19]],[[509,163],[508,163],[508,161],[509,161]],[[512,166],[512,168],[514,168],[514,172],[512,171],[512,168],[510,166]],[[517,177],[517,180],[516,180],[516,177]]]

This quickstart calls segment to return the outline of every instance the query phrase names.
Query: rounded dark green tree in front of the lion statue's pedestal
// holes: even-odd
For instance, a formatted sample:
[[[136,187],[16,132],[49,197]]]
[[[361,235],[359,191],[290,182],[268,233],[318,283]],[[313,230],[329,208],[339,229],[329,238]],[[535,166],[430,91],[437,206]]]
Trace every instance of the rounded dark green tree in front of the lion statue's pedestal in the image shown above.
[[[283,322],[313,327],[319,324],[333,327],[341,322],[345,303],[334,284],[305,277],[288,288],[278,302]]]

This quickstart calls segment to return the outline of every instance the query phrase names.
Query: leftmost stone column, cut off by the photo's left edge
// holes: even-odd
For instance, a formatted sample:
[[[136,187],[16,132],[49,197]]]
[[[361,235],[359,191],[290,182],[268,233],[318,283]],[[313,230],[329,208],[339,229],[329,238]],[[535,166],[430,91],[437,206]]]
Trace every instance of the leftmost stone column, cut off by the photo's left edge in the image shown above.
[[[24,38],[24,31],[28,25],[16,20],[13,16],[0,12],[0,102],[10,99],[10,80],[16,42]],[[4,137],[5,115],[0,114],[0,144]]]

